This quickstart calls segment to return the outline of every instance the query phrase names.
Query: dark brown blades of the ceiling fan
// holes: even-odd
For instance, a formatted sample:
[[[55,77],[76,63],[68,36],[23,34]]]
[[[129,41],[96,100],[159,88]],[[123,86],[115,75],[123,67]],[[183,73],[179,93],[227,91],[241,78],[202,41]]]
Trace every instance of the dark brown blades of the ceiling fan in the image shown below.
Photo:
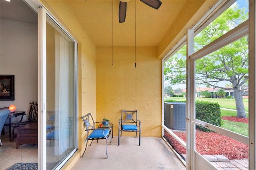
[[[122,23],[126,18],[126,5],[129,0],[120,0],[119,2],[119,22]],[[158,10],[162,2],[160,0],[140,0],[144,4]]]

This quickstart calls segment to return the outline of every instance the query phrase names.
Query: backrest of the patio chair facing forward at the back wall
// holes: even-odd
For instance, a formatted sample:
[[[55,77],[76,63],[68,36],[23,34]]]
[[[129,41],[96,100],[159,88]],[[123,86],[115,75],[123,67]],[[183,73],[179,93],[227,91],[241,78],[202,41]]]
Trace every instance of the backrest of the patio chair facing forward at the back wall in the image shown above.
[[[137,110],[122,110],[121,124],[123,123],[134,123],[137,125],[138,111]]]

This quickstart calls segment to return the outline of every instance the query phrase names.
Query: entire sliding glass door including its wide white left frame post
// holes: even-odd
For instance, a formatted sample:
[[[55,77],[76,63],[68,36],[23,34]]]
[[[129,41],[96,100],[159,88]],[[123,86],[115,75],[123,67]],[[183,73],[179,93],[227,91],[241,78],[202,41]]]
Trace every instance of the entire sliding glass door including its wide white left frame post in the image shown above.
[[[38,169],[60,169],[77,150],[77,43],[39,1]]]

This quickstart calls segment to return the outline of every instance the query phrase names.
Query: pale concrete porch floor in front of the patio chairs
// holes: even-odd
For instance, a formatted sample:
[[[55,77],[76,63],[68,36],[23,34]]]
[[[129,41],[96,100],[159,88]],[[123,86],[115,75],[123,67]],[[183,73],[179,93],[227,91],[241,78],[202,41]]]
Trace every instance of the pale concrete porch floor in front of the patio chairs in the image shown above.
[[[107,146],[108,158],[105,143],[93,141],[72,170],[186,170],[162,138],[142,137],[138,146],[138,137],[122,137],[118,146],[118,137],[114,136],[112,145]]]

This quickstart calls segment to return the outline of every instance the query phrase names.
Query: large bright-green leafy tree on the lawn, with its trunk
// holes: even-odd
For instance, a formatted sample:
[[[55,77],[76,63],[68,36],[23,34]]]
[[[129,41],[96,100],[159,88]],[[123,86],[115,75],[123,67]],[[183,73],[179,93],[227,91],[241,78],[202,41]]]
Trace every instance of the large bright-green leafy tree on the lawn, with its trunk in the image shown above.
[[[248,12],[244,9],[236,5],[228,8],[194,38],[195,51],[247,19]],[[172,84],[186,82],[186,46],[165,63],[164,73]],[[220,86],[222,81],[232,86]],[[248,36],[196,60],[196,84],[234,90],[237,117],[246,117],[242,96],[248,95],[244,89],[248,84]]]

